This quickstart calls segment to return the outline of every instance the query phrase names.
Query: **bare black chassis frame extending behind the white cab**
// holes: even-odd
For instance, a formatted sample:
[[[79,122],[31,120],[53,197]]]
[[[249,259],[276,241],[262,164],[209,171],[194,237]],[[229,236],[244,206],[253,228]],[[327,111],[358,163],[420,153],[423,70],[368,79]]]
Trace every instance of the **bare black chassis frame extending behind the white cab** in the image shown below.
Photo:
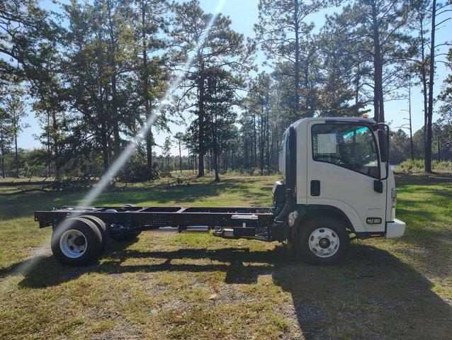
[[[56,227],[71,217],[94,216],[106,223],[113,234],[134,234],[145,230],[209,232],[224,238],[271,241],[268,230],[274,214],[269,207],[64,207],[36,211],[40,227]]]

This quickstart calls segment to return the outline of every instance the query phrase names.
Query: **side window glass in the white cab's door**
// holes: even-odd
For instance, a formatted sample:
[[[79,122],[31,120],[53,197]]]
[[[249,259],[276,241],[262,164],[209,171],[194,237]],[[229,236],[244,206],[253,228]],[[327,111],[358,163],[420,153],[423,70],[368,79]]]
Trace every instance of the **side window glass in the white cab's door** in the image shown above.
[[[312,126],[312,159],[379,178],[378,149],[370,128],[354,124]]]

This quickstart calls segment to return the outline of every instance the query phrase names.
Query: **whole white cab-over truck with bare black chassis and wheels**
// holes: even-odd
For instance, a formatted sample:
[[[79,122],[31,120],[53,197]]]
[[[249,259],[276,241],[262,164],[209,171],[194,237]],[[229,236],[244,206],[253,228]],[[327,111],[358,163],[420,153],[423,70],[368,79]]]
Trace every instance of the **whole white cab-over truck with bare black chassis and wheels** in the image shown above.
[[[273,207],[64,207],[36,211],[53,226],[52,252],[62,263],[96,261],[110,239],[130,240],[145,230],[210,232],[226,239],[288,242],[300,259],[337,263],[352,239],[401,237],[395,219],[394,174],[388,125],[368,118],[305,118],[281,142]]]

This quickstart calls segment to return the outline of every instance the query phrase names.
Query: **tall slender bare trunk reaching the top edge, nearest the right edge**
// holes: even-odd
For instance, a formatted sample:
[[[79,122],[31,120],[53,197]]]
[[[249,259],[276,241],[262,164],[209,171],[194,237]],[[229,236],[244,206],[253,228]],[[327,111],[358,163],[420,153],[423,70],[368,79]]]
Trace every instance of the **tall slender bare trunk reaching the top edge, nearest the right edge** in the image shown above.
[[[430,40],[430,67],[429,67],[429,111],[427,115],[427,140],[425,149],[425,171],[431,172],[431,120],[433,117],[433,85],[435,74],[435,19],[436,0],[431,5],[431,40]]]

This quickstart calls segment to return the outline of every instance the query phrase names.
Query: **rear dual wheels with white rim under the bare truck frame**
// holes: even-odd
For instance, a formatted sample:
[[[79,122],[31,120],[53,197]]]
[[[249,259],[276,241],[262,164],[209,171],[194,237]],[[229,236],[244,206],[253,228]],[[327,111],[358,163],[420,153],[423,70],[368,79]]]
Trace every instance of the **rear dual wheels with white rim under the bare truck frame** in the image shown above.
[[[105,223],[95,216],[81,216],[62,221],[52,233],[52,252],[63,264],[86,266],[98,259],[108,246],[110,235]]]

